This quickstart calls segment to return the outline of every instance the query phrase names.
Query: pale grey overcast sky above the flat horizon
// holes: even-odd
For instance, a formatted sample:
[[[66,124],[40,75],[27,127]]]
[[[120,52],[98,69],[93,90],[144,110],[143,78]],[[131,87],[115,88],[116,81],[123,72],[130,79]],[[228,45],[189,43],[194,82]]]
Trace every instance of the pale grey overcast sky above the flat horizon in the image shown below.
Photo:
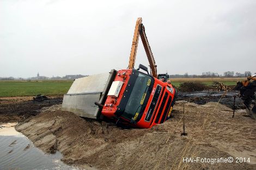
[[[138,17],[158,73],[254,73],[255,16],[254,0],[0,0],[0,77],[127,68]],[[141,40],[139,64],[149,65]]]

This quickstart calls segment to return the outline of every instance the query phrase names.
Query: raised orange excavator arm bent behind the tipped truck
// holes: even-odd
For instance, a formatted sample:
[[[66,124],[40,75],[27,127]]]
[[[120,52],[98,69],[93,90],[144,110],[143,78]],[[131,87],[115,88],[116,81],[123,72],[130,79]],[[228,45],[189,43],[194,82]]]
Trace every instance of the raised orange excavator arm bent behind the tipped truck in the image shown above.
[[[155,62],[153,53],[151,51],[151,48],[149,46],[147,35],[145,33],[145,27],[142,24],[142,18],[138,18],[137,22],[136,22],[128,68],[129,69],[134,68],[139,36],[141,36],[141,40],[142,40],[145,52],[146,52],[148,60],[149,60],[151,73],[152,73],[153,77],[157,78],[156,62]]]

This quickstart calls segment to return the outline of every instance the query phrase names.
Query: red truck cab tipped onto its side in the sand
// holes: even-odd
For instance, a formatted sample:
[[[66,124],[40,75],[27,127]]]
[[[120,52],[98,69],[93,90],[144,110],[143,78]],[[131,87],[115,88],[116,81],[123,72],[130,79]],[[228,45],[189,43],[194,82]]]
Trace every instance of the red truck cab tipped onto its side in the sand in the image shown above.
[[[151,128],[170,118],[176,90],[135,69],[120,70],[108,92],[101,114],[138,128]]]

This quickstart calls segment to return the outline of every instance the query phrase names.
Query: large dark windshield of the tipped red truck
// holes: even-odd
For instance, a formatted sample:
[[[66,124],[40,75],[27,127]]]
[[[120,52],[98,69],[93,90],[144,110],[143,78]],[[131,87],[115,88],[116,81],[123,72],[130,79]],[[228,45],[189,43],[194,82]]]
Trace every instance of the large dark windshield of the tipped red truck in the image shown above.
[[[125,106],[124,113],[122,114],[123,117],[127,119],[137,119],[138,115],[141,112],[144,112],[145,106],[148,103],[152,84],[152,78],[149,75],[138,73],[131,95]]]

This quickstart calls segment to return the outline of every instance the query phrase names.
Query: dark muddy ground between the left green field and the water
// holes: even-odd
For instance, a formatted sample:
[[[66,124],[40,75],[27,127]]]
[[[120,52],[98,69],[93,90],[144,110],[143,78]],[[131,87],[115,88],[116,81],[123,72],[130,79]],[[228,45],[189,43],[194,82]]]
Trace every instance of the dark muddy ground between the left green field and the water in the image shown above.
[[[40,109],[62,104],[62,96],[49,96],[48,100],[33,101],[33,97],[1,97],[0,122],[20,122],[39,114]]]

